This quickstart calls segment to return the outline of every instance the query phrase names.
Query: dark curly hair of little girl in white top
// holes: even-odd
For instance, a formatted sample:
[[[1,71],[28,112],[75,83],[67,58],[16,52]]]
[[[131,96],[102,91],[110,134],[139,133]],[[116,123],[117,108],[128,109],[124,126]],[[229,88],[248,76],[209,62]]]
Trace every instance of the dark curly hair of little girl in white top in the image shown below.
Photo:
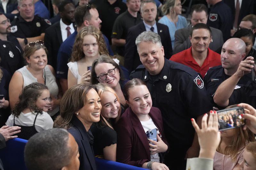
[[[29,108],[31,112],[42,112],[42,109],[36,106],[36,100],[43,90],[48,90],[48,87],[41,83],[31,83],[24,87],[19,96],[19,101],[12,110],[12,114],[18,117],[25,108]]]

